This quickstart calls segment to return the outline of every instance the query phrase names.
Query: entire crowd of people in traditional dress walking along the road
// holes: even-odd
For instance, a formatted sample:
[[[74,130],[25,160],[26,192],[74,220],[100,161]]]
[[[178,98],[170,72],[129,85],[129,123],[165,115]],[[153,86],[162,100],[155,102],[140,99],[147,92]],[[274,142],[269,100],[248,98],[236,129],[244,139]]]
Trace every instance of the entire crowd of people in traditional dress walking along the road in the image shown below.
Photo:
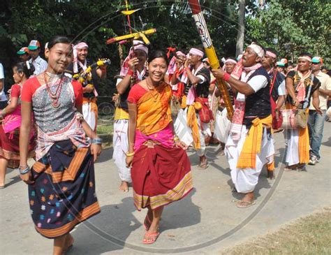
[[[55,36],[45,45],[46,61],[41,43],[32,40],[17,52],[8,99],[0,65],[0,188],[6,168],[18,168],[29,185],[36,231],[54,239],[54,254],[72,247],[75,225],[100,212],[94,78],[107,78],[107,66],[98,60],[91,68],[88,48]],[[219,145],[233,189],[243,194],[237,207],[250,207],[263,168],[274,178],[274,132],[284,133],[285,170],[306,170],[321,159],[331,96],[323,59],[308,52],[290,63],[273,48],[251,43],[212,69],[201,48],[169,49],[133,41],[116,77],[113,159],[119,189],[127,192],[132,184],[135,207],[147,208],[144,244],[159,237],[163,207],[193,189],[187,148],[205,170],[207,145]],[[31,168],[29,158],[36,161]]]

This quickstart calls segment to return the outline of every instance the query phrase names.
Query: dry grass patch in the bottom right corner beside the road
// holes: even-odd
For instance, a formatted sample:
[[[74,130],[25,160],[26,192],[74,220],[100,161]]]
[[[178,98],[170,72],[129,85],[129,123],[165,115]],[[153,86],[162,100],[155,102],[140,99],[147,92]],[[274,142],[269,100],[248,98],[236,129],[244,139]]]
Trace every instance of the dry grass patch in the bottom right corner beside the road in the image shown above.
[[[331,254],[331,207],[222,254]]]

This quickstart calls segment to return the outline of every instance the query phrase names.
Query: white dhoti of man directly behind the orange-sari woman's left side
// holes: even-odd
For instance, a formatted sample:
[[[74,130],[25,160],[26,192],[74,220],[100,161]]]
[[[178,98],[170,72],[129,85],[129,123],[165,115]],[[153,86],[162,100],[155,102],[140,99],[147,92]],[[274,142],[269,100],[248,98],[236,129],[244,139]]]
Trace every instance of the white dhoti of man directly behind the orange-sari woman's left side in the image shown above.
[[[112,159],[119,170],[119,178],[131,182],[131,169],[126,167],[126,152],[128,152],[128,119],[117,119],[114,122],[112,136],[114,153]]]

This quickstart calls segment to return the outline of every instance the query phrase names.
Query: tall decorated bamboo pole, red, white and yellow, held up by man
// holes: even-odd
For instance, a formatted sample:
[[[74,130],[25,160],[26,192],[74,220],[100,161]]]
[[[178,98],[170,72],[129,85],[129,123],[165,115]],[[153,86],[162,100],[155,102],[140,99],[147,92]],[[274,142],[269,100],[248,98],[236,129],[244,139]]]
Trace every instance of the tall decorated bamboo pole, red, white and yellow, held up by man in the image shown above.
[[[212,38],[209,36],[207,29],[207,24],[205,17],[203,17],[203,12],[201,11],[200,3],[198,0],[189,0],[189,5],[191,7],[193,18],[196,21],[196,28],[198,29],[201,41],[203,41],[203,48],[210,62],[210,66],[213,69],[220,68],[219,59],[217,58],[214,46],[212,45]],[[226,105],[226,110],[228,111],[228,116],[230,119],[233,117],[233,105],[230,100],[230,95],[228,92],[228,86],[224,83],[222,79],[217,79],[219,85],[219,91],[221,92],[223,101]]]

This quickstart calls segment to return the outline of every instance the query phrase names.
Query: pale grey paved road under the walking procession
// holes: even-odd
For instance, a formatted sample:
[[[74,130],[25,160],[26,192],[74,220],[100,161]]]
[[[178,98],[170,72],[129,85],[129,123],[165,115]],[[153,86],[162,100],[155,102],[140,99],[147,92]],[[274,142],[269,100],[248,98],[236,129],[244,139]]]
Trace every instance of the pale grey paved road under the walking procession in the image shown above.
[[[240,198],[231,192],[230,171],[225,156],[216,157],[217,147],[208,147],[209,168],[199,170],[198,156],[189,152],[194,191],[183,201],[165,207],[161,235],[151,246],[142,245],[145,212],[133,206],[131,192],[118,190],[119,177],[112,150],[105,150],[96,163],[97,194],[101,214],[75,231],[70,254],[220,254],[256,235],[331,205],[331,123],[325,123],[322,159],[307,172],[284,172],[284,136],[277,133],[277,178],[263,172],[257,187],[256,205],[235,207]],[[1,254],[51,254],[52,241],[36,233],[29,215],[27,186],[17,173],[7,175],[0,190]]]

